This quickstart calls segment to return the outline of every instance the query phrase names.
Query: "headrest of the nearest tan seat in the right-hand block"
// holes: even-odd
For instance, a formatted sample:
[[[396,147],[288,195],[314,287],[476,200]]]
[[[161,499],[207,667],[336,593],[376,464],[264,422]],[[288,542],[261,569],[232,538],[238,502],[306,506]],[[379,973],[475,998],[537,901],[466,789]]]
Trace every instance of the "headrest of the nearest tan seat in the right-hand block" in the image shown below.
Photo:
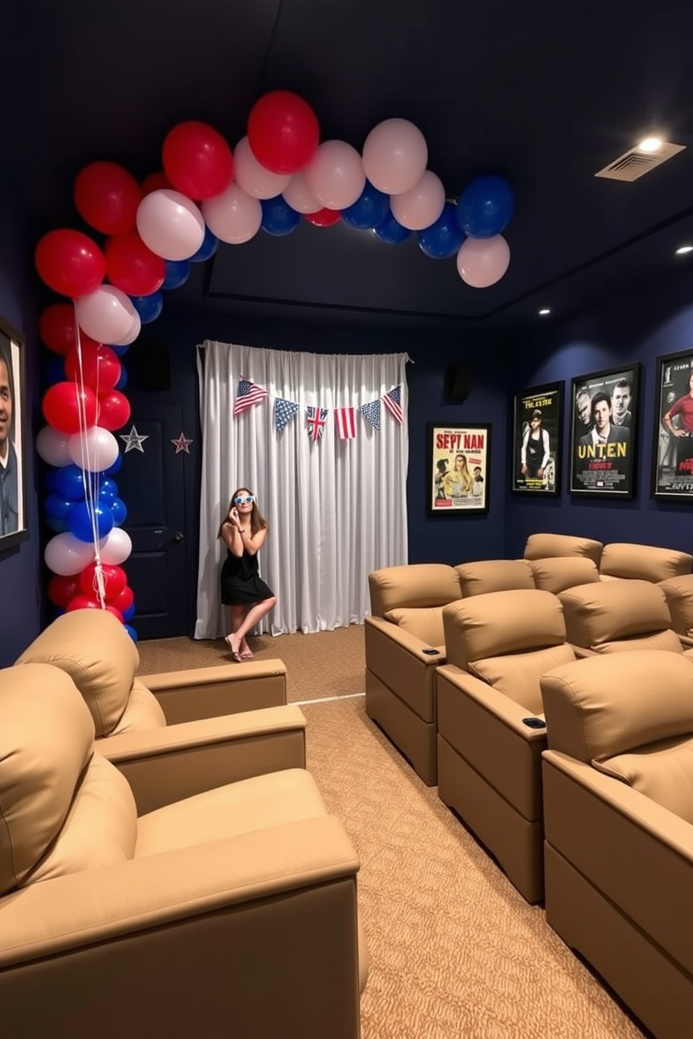
[[[693,663],[677,654],[589,657],[540,686],[550,748],[581,762],[693,732]]]

